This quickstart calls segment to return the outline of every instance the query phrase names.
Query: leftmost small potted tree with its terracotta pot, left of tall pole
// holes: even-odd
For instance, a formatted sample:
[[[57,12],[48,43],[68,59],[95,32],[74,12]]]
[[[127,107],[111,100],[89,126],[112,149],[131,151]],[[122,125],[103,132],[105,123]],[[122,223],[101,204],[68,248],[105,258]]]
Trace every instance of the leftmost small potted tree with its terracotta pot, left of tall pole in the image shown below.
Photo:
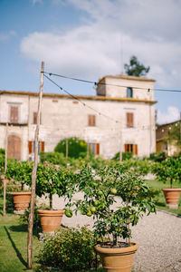
[[[8,180],[16,180],[17,184],[14,191],[10,192],[13,196],[14,208],[16,212],[24,212],[29,208],[31,191],[25,189],[25,184],[32,180],[32,161],[17,161],[8,159],[5,178]]]

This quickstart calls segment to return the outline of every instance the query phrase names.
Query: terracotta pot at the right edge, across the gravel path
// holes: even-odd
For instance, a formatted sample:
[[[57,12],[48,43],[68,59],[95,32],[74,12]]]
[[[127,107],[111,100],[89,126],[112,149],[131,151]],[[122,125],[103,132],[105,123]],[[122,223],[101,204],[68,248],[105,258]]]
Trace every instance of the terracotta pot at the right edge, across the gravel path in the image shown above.
[[[181,189],[167,188],[162,189],[169,209],[178,209],[178,199]]]

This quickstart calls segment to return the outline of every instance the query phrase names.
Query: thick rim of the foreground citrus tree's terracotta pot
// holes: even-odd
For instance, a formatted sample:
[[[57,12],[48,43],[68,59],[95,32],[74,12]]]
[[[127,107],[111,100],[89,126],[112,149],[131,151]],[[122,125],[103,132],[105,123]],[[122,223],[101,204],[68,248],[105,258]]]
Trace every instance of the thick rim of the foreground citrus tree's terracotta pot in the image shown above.
[[[96,245],[95,249],[98,251],[100,254],[121,254],[121,253],[135,253],[135,251],[138,250],[138,244],[136,243],[129,243],[130,247],[125,247],[125,248],[101,248],[100,244]]]

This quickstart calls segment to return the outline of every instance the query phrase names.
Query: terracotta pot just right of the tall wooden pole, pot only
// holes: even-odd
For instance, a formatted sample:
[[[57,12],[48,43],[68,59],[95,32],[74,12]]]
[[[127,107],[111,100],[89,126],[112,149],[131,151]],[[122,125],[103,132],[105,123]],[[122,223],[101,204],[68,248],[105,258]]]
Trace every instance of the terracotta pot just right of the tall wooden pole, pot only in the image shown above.
[[[37,211],[40,215],[43,232],[52,232],[61,227],[62,216],[64,213],[63,209],[37,209]]]

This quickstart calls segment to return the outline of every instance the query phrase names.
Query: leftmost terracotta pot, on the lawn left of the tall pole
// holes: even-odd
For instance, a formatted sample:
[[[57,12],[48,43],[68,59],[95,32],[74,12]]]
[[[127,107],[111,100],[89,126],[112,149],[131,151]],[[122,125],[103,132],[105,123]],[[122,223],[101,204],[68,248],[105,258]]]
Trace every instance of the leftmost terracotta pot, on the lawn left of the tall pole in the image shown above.
[[[29,208],[31,192],[30,191],[14,191],[10,193],[14,199],[15,210],[25,210]]]

